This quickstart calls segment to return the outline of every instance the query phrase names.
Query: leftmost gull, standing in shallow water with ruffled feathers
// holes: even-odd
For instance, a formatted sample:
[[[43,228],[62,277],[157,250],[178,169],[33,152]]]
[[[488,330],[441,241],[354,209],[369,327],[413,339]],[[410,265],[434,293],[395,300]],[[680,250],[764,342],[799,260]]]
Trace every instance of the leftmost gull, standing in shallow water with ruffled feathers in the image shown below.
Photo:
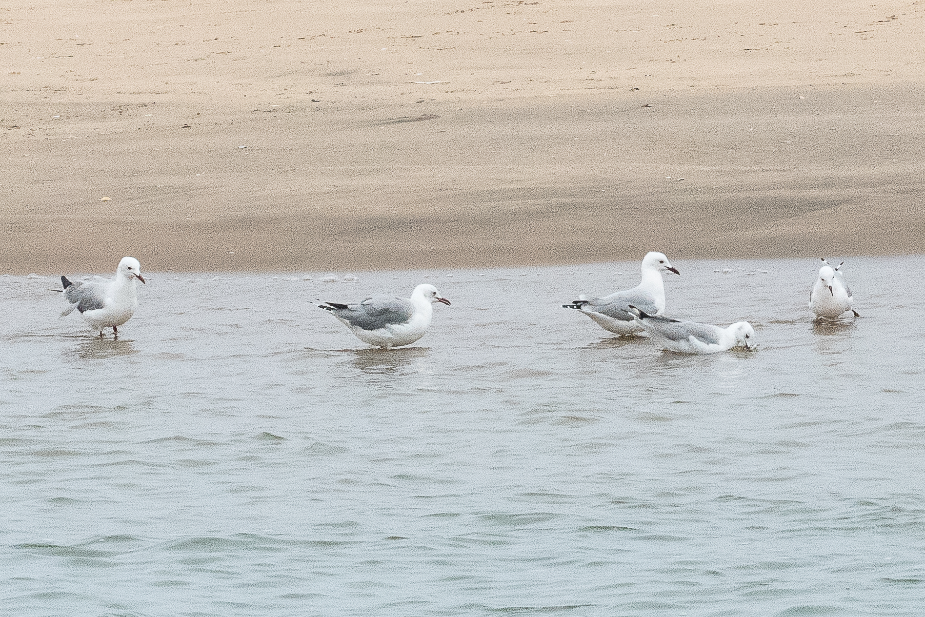
[[[129,321],[138,307],[135,293],[138,281],[144,283],[142,265],[134,257],[122,258],[114,280],[74,283],[67,277],[61,277],[64,297],[70,302],[61,316],[66,317],[77,309],[87,325],[99,332],[101,337],[105,327],[113,328],[113,336],[118,337],[118,327]]]

